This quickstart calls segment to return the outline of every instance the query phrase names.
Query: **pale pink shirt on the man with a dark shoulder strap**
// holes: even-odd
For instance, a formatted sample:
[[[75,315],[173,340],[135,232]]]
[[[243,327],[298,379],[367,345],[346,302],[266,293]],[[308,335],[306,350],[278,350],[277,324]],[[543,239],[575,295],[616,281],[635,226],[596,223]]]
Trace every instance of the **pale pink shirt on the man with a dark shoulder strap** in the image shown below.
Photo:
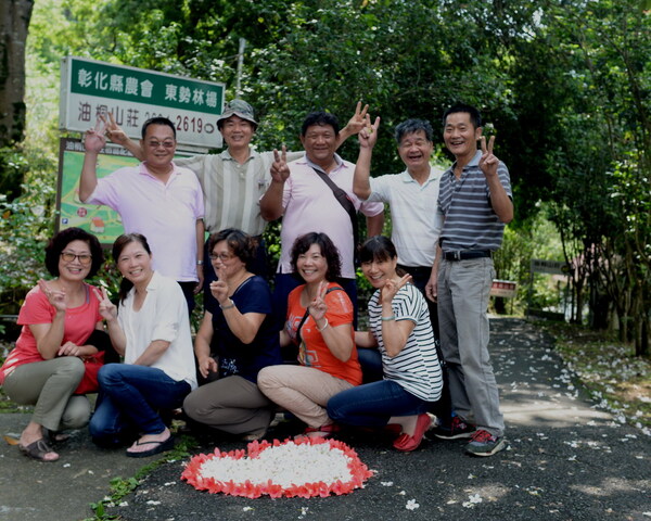
[[[335,154],[337,166],[329,174],[330,179],[342,188],[355,208],[367,217],[381,214],[382,203],[362,203],[353,193],[355,165]],[[317,175],[304,156],[289,164],[290,177],[282,194],[281,256],[278,271],[292,272],[292,245],[297,237],[310,231],[326,233],[340,252],[342,277],[355,278],[353,225],[350,217],[335,199],[332,190]]]

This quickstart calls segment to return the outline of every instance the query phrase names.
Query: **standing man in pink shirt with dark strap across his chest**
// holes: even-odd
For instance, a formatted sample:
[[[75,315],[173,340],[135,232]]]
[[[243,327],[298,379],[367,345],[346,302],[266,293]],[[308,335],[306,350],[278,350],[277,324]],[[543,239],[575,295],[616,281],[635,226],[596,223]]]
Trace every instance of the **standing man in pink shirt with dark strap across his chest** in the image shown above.
[[[382,233],[384,206],[382,203],[362,203],[353,192],[355,165],[336,153],[339,122],[326,112],[308,114],[301,130],[305,156],[289,165],[278,156],[271,167],[271,185],[260,199],[260,214],[266,220],[282,219],[281,257],[276,274],[273,308],[284,320],[289,293],[301,284],[292,274],[292,245],[299,236],[310,231],[330,237],[342,260],[342,287],[357,309],[355,284],[355,233],[349,214],[335,198],[332,189],[316,170],[330,178],[345,192],[356,211],[367,216],[368,236]],[[356,315],[357,318],[357,315]]]

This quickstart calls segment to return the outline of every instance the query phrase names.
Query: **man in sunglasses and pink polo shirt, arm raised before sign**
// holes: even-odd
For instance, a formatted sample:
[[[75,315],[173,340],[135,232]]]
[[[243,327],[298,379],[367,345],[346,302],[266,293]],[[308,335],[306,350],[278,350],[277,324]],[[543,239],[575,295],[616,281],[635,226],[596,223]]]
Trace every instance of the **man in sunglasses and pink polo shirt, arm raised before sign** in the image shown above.
[[[84,144],[79,199],[112,207],[120,215],[125,232],[146,237],[154,269],[179,282],[192,313],[193,294],[203,280],[204,202],[196,176],[173,162],[174,124],[165,117],[148,119],[140,141],[144,161],[102,179],[98,179],[97,163],[106,138],[89,130]]]

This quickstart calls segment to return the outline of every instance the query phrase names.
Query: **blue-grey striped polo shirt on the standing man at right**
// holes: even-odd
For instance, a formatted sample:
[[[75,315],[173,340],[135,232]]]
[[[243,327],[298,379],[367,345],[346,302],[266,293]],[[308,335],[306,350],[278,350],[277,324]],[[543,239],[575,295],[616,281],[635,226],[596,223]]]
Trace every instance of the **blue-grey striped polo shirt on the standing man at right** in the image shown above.
[[[490,190],[486,176],[480,169],[482,151],[463,167],[461,178],[455,176],[452,165],[441,179],[438,212],[445,216],[441,233],[444,252],[460,250],[499,250],[505,224],[490,206]],[[511,180],[507,166],[500,161],[497,167],[499,180],[509,198]]]

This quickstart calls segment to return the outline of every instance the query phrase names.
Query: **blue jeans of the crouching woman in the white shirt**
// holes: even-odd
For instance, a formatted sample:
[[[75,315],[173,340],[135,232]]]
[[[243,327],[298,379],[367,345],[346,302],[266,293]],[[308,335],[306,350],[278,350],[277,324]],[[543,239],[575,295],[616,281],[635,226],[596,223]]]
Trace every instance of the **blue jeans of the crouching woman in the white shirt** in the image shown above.
[[[157,409],[176,409],[190,393],[161,369],[131,364],[106,364],[98,374],[100,394],[90,419],[90,435],[100,445],[115,445],[124,434],[157,434],[165,423]]]

